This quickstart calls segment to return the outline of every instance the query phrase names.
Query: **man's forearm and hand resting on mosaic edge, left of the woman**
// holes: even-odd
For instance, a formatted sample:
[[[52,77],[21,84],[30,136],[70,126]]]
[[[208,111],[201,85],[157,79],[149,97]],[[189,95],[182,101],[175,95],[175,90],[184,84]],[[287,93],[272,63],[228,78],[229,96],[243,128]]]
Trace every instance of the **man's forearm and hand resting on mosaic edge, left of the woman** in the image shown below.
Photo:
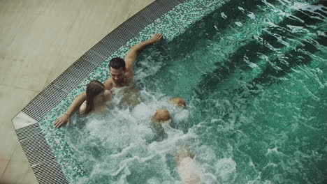
[[[80,107],[80,105],[82,105],[82,103],[86,100],[86,93],[80,93],[80,95],[78,95],[75,100],[73,100],[73,102],[71,103],[71,106],[68,107],[67,111],[65,112],[65,114],[63,114],[62,116],[60,116],[59,118],[57,118],[56,121],[54,121],[53,125],[55,128],[59,128],[61,127],[61,125],[63,125],[64,123],[67,123],[67,125],[69,124],[69,118],[71,117],[71,114],[75,111],[75,109],[77,109],[78,107]]]

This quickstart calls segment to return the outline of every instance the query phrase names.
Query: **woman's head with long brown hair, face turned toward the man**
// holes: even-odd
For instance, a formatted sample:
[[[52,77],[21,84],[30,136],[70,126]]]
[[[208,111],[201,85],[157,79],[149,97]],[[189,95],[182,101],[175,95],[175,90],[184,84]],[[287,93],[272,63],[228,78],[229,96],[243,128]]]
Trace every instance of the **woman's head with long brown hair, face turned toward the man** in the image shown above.
[[[89,114],[94,110],[94,106],[105,101],[106,96],[104,92],[104,85],[98,80],[93,80],[87,84],[87,108],[85,110],[85,114]]]

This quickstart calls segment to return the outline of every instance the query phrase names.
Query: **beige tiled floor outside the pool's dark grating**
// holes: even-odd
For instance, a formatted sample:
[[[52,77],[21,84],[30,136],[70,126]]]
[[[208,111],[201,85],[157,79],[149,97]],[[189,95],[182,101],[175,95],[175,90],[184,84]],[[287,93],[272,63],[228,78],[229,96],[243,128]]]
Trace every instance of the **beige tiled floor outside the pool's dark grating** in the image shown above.
[[[154,0],[0,0],[0,183],[37,183],[11,118]]]

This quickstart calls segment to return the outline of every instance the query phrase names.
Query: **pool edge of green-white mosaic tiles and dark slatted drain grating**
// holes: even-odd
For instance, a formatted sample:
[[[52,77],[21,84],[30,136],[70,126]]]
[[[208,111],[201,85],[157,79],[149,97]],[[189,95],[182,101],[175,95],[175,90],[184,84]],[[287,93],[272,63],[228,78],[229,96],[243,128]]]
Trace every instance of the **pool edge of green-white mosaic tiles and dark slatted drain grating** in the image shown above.
[[[39,183],[78,183],[87,172],[52,122],[64,114],[92,79],[109,77],[108,61],[123,57],[129,47],[161,32],[166,41],[184,33],[223,2],[157,0],[119,25],[49,84],[13,118],[20,144]],[[113,45],[114,43],[115,45]]]

